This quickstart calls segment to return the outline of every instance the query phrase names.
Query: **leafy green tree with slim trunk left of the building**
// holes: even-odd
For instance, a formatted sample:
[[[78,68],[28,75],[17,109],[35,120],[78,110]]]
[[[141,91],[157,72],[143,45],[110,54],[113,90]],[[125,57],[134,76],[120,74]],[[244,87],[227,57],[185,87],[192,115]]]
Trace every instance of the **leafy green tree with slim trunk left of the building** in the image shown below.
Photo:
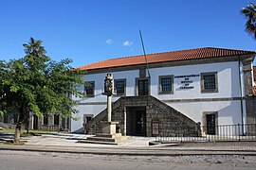
[[[23,44],[24,58],[0,60],[0,114],[19,112],[14,144],[20,143],[21,127],[30,111],[41,117],[50,113],[68,117],[77,111],[77,102],[69,95],[84,96],[78,87],[84,85],[85,73],[69,66],[71,59],[51,60],[42,43],[30,38]]]

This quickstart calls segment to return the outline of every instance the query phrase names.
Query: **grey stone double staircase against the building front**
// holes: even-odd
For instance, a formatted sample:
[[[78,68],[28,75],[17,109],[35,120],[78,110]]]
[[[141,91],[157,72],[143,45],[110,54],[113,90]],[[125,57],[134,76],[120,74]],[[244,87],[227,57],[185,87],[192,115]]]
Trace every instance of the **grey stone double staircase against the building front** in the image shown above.
[[[153,122],[159,123],[158,136],[167,134],[180,134],[182,129],[183,136],[201,136],[200,123],[195,123],[191,118],[174,110],[171,106],[158,100],[154,96],[123,96],[112,104],[112,120],[119,122],[117,132],[124,134],[124,112],[127,107],[146,108],[146,136],[153,136]],[[126,112],[129,114],[129,112]],[[107,121],[107,110],[102,110],[84,127],[87,134],[102,133],[101,121]]]

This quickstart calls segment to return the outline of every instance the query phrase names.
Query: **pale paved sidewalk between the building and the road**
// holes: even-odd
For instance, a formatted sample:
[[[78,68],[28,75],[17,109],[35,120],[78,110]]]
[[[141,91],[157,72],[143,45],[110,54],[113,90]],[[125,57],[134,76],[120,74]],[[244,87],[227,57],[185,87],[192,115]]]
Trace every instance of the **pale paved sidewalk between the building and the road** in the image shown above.
[[[0,135],[1,136],[1,135]],[[256,142],[225,142],[225,143],[182,143],[149,146],[152,137],[132,137],[126,144],[82,144],[79,140],[86,139],[84,134],[53,133],[42,136],[22,138],[24,145],[1,144],[0,149],[80,153],[108,155],[251,155],[256,156]]]

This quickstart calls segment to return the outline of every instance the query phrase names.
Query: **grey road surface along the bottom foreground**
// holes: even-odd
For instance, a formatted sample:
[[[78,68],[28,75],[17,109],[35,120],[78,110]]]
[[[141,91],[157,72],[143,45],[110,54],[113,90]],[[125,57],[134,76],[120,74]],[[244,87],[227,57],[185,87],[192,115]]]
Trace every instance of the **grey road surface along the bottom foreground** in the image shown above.
[[[255,169],[255,156],[120,156],[0,150],[0,170]]]

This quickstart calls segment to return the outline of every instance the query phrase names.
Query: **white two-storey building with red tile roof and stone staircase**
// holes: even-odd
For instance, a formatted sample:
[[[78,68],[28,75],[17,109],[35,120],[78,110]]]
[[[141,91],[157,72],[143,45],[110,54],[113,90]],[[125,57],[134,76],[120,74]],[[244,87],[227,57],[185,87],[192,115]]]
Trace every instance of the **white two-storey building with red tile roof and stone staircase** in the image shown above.
[[[82,66],[79,69],[88,71],[84,80],[89,85],[81,89],[86,98],[74,98],[80,103],[71,132],[82,132],[83,124],[87,132],[99,131],[106,109],[106,96],[101,93],[107,73],[115,79],[112,119],[119,121],[122,133],[152,136],[168,131],[170,125],[201,125],[206,127],[203,134],[216,134],[215,126],[255,123],[251,97],[255,54],[206,47]]]

